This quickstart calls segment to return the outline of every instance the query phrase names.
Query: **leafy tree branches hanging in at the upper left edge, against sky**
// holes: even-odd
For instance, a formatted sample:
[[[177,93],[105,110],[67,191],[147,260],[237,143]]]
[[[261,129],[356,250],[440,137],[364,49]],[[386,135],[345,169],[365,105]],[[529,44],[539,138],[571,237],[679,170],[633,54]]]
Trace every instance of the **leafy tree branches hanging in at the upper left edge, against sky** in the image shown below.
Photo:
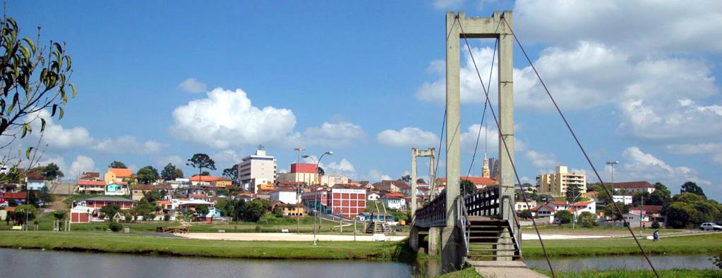
[[[75,98],[77,91],[70,82],[71,58],[64,43],[40,45],[40,27],[37,42],[21,37],[12,17],[4,17],[0,24],[0,137],[9,138],[0,147],[4,148],[18,136],[32,133],[33,127],[39,126],[42,135],[48,120],[63,118],[69,97]],[[30,159],[33,148],[27,148],[26,158]]]

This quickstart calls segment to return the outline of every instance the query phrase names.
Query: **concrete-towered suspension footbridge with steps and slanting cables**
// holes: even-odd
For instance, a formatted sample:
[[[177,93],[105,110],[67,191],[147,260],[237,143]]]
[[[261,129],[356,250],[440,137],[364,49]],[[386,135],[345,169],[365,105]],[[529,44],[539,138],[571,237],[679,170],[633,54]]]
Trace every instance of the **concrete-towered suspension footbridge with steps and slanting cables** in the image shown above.
[[[445,169],[446,187],[444,192],[438,196],[432,195],[432,199],[424,207],[417,209],[415,197],[417,196],[416,158],[417,156],[430,156],[432,169],[430,174],[435,176],[436,170],[433,166],[436,153],[433,148],[429,151],[418,151],[412,149],[412,230],[409,234],[409,244],[416,251],[419,250],[419,243],[424,236],[428,236],[427,251],[431,255],[439,255],[443,272],[453,272],[461,269],[464,264],[471,264],[480,274],[490,277],[544,277],[543,275],[526,268],[523,263],[521,248],[521,226],[513,210],[515,197],[515,184],[521,184],[514,164],[514,111],[513,111],[513,46],[516,41],[519,48],[534,69],[537,78],[544,91],[549,95],[557,112],[564,120],[569,132],[573,136],[580,151],[588,161],[597,179],[601,176],[586,155],[586,151],[575,135],[573,129],[565,119],[561,109],[557,106],[552,94],[549,93],[546,84],[531,63],[529,55],[526,54],[523,45],[513,32],[512,12],[494,12],[492,17],[466,17],[464,12],[447,12],[446,14],[446,109],[442,127],[442,140],[445,139]],[[489,97],[489,83],[493,72],[490,72],[490,81],[484,86],[479,67],[471,52],[469,39],[494,39],[495,52],[497,54],[497,76],[498,76],[498,105],[497,111],[491,105]],[[484,102],[484,117],[486,116],[487,105],[493,116],[493,123],[499,130],[499,174],[498,185],[485,187],[476,192],[464,192],[460,188],[461,169],[461,102],[460,102],[460,51],[461,42],[464,42],[466,50],[471,55],[471,62],[476,68],[479,82],[482,85]],[[482,126],[484,122],[482,117]],[[444,137],[445,133],[445,137]],[[481,133],[481,130],[479,130]],[[478,145],[478,138],[477,138]],[[441,143],[440,143],[441,147]],[[441,150],[441,148],[439,148]],[[474,150],[474,157],[476,150]],[[438,158],[438,156],[437,156]],[[438,166],[438,160],[436,163]],[[473,166],[473,159],[472,159]],[[471,169],[471,167],[470,167]],[[467,174],[468,176],[468,174]],[[432,190],[435,184],[432,179]],[[606,189],[606,187],[604,187]],[[526,193],[521,190],[523,199],[526,200]],[[607,189],[606,194],[612,196]],[[526,202],[526,201],[524,201]],[[614,203],[612,203],[614,204]],[[526,204],[529,207],[529,203]],[[616,204],[615,204],[616,206]],[[616,210],[619,210],[617,207]],[[626,220],[624,220],[626,223]],[[547,264],[554,274],[554,269],[549,261],[544,241],[539,236],[539,229],[536,222],[532,221],[537,238],[544,250]],[[627,225],[629,228],[629,225]],[[649,266],[656,274],[656,269],[649,261],[642,246],[638,242],[631,228],[632,237],[640,248],[641,254],[647,259]],[[438,245],[440,243],[440,246]]]

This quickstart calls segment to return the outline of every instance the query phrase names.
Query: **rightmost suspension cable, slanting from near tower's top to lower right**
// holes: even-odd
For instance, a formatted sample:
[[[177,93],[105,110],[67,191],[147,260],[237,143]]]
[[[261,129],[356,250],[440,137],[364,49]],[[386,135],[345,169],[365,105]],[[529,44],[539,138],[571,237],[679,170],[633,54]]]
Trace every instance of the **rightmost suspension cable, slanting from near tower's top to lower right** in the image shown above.
[[[579,141],[579,138],[577,137],[576,133],[574,133],[574,130],[572,130],[571,125],[569,125],[569,122],[567,121],[567,118],[564,117],[564,113],[562,113],[562,109],[560,109],[559,105],[557,104],[557,101],[554,100],[554,97],[552,97],[552,93],[549,92],[549,89],[547,88],[547,84],[544,84],[544,80],[541,79],[541,76],[539,75],[539,71],[536,71],[536,67],[534,66],[534,63],[531,63],[531,58],[529,58],[529,55],[526,54],[526,50],[524,50],[523,45],[521,45],[521,42],[519,42],[519,38],[516,37],[516,34],[514,33],[514,30],[511,28],[510,24],[506,21],[505,18],[503,18],[504,24],[509,27],[509,31],[511,32],[511,35],[513,35],[514,40],[516,40],[516,44],[519,45],[519,48],[521,49],[521,52],[524,54],[524,57],[526,57],[526,60],[529,61],[529,65],[531,66],[531,69],[534,70],[534,74],[536,74],[536,78],[539,79],[539,82],[541,83],[541,86],[544,87],[544,91],[547,92],[547,96],[549,96],[549,99],[552,100],[552,104],[554,104],[554,108],[557,109],[557,112],[559,113],[560,117],[562,117],[562,120],[564,121],[564,124],[567,126],[567,130],[569,130],[569,133],[571,133],[572,137],[574,138],[575,142],[577,143],[579,150],[583,153],[584,158],[586,158],[587,163],[589,163],[589,166],[591,167],[592,171],[594,171],[594,175],[596,175],[596,178],[599,179],[599,182],[601,182],[601,187],[604,188],[604,192],[606,192],[607,196],[614,201],[614,198],[612,198],[612,193],[609,192],[609,189],[606,188],[606,185],[604,184],[604,181],[602,181],[601,176],[599,175],[599,172],[596,171],[596,167],[594,167],[594,164],[591,162],[591,159],[587,155],[582,143]],[[461,25],[461,24],[460,24]],[[612,184],[614,186],[614,184]],[[614,206],[614,209],[619,212],[619,215],[623,215],[622,210],[619,210],[619,206],[617,206],[616,202],[612,202],[612,205]],[[612,215],[614,216],[614,215]],[[644,248],[642,247],[642,244],[637,239],[637,236],[635,236],[634,232],[632,231],[632,228],[630,227],[629,223],[627,223],[627,220],[622,217],[622,221],[624,222],[625,226],[627,227],[627,230],[630,231],[630,234],[632,234],[632,238],[634,238],[635,243],[637,243],[637,246],[639,247],[640,251],[642,252],[642,255],[644,256],[644,259],[647,260],[647,263],[652,268],[652,271],[656,275],[656,277],[660,277],[657,273],[657,269],[654,268],[654,265],[652,264],[652,261],[647,256],[646,252],[644,251]]]

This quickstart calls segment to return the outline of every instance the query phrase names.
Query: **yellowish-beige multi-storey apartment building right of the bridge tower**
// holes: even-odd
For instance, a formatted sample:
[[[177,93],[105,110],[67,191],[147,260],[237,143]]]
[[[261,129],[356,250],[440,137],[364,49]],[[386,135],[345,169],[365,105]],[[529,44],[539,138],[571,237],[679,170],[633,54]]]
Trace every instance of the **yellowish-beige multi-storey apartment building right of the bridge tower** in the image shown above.
[[[536,187],[539,194],[549,194],[553,197],[566,197],[567,187],[571,184],[579,185],[582,197],[586,197],[586,174],[569,173],[567,166],[557,166],[554,174],[541,174],[536,176]]]

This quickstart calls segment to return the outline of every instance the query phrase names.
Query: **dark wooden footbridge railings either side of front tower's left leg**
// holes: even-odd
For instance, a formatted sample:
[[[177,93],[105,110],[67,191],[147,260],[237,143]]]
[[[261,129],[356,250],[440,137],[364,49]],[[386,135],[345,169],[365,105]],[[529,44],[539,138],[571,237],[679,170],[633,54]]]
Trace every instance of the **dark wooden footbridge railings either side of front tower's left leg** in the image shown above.
[[[499,215],[499,187],[484,187],[463,198],[469,216]],[[425,207],[416,211],[414,225],[421,228],[446,225],[446,192],[441,192]]]

